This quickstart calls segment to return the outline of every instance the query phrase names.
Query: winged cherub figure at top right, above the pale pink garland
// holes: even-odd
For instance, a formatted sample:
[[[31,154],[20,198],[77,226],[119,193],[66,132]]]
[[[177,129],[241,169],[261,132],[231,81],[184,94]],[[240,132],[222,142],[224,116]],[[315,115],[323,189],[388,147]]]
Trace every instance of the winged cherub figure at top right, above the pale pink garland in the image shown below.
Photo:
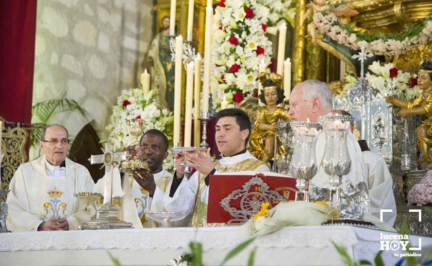
[[[308,19],[309,15],[315,12],[324,12],[324,11],[332,12],[334,15],[338,17],[351,17],[359,14],[358,11],[350,8],[345,4],[341,4],[335,7],[333,4],[326,4],[326,2],[327,0],[313,0],[310,3],[308,3],[306,5],[308,9],[306,10],[306,13],[303,15],[303,21]],[[319,39],[324,38],[324,36],[318,35],[318,33],[316,32],[316,25],[314,21],[312,21],[308,25],[308,31],[309,31],[309,35],[307,35],[306,37],[310,36],[312,38],[312,43],[315,43],[316,39],[318,38]]]

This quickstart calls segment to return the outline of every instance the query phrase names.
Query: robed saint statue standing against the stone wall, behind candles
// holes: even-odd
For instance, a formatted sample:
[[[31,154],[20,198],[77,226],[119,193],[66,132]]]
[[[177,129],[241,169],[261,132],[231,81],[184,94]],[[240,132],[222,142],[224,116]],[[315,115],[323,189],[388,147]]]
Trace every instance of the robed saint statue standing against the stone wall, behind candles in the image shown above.
[[[154,36],[147,56],[151,73],[151,89],[158,95],[159,108],[174,108],[174,62],[169,48],[169,16],[162,18],[162,31]]]

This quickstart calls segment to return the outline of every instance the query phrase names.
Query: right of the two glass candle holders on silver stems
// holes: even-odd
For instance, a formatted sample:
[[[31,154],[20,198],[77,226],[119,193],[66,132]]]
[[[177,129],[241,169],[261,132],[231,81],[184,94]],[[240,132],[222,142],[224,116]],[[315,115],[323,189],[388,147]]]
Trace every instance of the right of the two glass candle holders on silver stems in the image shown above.
[[[353,120],[351,116],[341,115],[327,115],[318,118],[326,137],[322,166],[324,172],[330,176],[330,184],[333,186],[330,202],[333,202],[338,209],[341,209],[342,177],[348,175],[351,170],[347,137],[350,123],[353,123]],[[334,195],[336,198],[333,201]]]

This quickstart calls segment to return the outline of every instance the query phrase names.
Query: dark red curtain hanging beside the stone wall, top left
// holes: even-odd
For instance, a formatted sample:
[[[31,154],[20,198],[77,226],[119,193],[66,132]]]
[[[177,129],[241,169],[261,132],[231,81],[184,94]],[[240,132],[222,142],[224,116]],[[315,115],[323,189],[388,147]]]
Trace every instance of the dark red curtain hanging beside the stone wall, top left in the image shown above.
[[[0,116],[30,123],[37,0],[0,0]]]

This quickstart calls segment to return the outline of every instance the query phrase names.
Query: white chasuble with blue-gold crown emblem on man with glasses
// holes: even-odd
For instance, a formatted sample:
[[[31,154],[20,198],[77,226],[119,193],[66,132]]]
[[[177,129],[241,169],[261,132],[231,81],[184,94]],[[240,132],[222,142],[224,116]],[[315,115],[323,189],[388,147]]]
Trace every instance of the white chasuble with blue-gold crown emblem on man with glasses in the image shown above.
[[[66,217],[69,230],[75,230],[84,221],[90,221],[93,212],[84,210],[86,204],[78,203],[77,192],[91,192],[94,182],[81,164],[66,158],[66,175],[49,176],[45,155],[20,165],[12,177],[7,196],[8,229],[13,232],[37,230],[50,218]]]

